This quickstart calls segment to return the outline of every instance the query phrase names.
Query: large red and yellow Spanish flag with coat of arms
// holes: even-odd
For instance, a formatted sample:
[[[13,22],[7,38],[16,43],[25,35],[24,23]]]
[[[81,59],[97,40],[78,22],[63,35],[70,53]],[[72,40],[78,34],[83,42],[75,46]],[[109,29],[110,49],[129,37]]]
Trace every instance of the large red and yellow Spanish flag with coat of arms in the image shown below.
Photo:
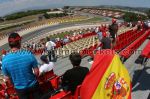
[[[131,99],[130,76],[115,51],[96,53],[80,95],[81,99]]]

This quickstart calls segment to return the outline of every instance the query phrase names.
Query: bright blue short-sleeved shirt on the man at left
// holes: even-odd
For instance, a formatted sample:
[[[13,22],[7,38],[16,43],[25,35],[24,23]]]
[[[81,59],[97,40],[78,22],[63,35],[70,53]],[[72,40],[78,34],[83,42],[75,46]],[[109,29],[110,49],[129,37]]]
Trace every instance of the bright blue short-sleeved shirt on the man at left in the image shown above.
[[[37,83],[33,68],[37,68],[35,56],[27,50],[8,53],[2,60],[2,72],[11,78],[16,89],[26,89]]]

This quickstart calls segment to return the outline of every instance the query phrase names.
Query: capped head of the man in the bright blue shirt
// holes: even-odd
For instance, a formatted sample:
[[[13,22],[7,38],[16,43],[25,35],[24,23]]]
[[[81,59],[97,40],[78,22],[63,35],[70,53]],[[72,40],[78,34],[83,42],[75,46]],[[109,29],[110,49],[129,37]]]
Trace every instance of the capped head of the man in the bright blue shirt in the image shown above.
[[[10,48],[21,47],[21,37],[18,33],[11,33],[8,37],[8,42],[9,42]]]

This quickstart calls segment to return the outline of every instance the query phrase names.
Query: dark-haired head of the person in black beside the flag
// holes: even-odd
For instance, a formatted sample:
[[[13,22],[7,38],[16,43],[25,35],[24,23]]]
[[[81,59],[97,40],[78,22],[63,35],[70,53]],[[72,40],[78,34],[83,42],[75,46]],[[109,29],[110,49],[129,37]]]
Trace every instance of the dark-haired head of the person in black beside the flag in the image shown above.
[[[71,53],[69,59],[73,66],[79,66],[81,63],[81,55],[77,52]]]

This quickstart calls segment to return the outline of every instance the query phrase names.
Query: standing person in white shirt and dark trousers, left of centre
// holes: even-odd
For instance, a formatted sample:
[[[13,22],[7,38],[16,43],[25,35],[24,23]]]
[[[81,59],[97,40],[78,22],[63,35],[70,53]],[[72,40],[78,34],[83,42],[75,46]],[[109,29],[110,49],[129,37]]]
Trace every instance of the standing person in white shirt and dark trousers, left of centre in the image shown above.
[[[48,51],[48,57],[49,57],[49,61],[53,61],[55,60],[55,46],[56,44],[54,42],[52,42],[49,38],[47,38],[47,42],[46,42],[46,49]]]

